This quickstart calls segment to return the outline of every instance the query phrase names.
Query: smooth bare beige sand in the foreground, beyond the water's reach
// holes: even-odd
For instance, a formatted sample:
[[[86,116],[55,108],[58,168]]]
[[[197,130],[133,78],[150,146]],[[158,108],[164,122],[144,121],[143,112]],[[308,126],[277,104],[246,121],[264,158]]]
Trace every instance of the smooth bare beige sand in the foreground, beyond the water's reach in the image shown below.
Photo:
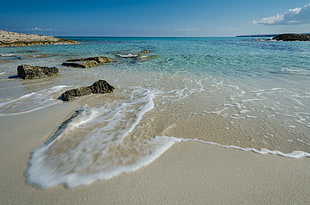
[[[1,204],[310,204],[309,158],[198,142],[178,143],[149,166],[88,186],[27,185],[31,151],[71,115],[71,105],[0,117]]]

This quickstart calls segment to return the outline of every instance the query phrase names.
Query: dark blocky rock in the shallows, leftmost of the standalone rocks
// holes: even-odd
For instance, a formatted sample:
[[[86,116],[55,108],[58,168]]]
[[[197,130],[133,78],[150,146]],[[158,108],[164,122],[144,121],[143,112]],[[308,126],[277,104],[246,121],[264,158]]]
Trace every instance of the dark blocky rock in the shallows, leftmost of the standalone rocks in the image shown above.
[[[56,67],[42,67],[31,65],[19,65],[17,67],[17,75],[23,79],[37,79],[51,77],[58,74]]]

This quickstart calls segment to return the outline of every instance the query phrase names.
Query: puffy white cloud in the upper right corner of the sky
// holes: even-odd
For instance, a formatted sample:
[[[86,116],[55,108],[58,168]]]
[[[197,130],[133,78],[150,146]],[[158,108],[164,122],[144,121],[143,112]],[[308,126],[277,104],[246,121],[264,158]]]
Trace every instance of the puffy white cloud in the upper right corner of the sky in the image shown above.
[[[284,14],[262,18],[258,21],[253,21],[253,23],[264,25],[310,24],[310,3],[302,8],[289,9]]]

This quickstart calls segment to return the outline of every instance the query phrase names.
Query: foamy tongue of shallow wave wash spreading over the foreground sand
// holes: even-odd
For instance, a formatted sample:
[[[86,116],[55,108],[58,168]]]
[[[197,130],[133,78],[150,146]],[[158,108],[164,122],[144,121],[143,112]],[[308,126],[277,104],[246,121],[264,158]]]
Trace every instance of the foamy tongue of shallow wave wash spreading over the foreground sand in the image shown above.
[[[135,89],[126,102],[82,108],[35,149],[27,182],[42,188],[90,184],[145,166],[179,139],[135,137],[130,133],[153,109],[154,92]]]

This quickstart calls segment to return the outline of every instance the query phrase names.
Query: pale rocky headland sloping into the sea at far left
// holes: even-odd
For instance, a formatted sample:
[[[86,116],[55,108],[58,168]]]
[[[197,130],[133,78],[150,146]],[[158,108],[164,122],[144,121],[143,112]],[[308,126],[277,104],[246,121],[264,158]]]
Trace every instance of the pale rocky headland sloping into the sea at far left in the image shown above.
[[[33,46],[44,44],[77,44],[78,42],[57,38],[54,36],[42,36],[36,34],[14,33],[0,30],[0,47],[5,46]]]

